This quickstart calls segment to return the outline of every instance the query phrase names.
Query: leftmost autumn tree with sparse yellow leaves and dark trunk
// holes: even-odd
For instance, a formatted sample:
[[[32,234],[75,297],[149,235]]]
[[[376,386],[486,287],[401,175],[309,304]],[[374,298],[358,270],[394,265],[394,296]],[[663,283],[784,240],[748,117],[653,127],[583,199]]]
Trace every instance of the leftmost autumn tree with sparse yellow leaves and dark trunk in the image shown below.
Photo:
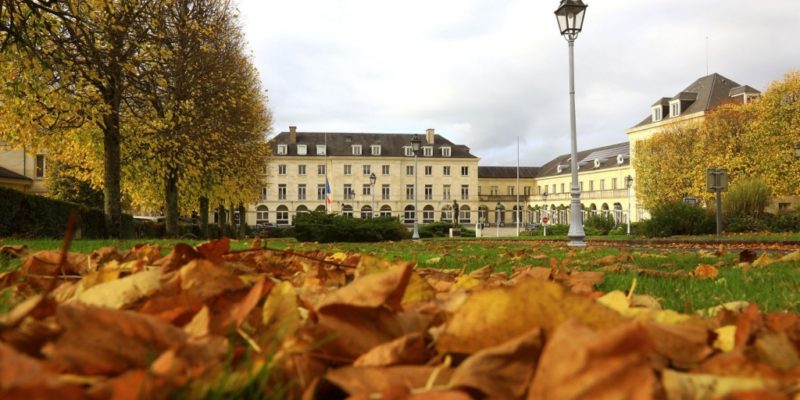
[[[14,52],[18,61],[32,60],[52,78],[42,84],[41,79],[26,82],[30,76],[17,75],[13,84],[26,89],[17,99],[58,101],[41,106],[50,119],[64,117],[82,132],[91,132],[89,125],[99,130],[106,227],[119,236],[122,115],[130,104],[130,88],[140,77],[136,65],[150,22],[158,15],[158,0],[0,1],[3,51]],[[39,132],[47,135],[46,129]],[[44,142],[48,148],[57,145]]]

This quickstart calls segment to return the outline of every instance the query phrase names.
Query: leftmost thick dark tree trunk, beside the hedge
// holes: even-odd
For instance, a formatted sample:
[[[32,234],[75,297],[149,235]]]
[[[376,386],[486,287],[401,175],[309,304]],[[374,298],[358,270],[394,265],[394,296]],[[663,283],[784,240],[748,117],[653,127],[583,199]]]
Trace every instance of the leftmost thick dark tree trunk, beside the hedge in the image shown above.
[[[119,107],[109,112],[103,120],[103,211],[106,234],[119,238],[122,234]]]

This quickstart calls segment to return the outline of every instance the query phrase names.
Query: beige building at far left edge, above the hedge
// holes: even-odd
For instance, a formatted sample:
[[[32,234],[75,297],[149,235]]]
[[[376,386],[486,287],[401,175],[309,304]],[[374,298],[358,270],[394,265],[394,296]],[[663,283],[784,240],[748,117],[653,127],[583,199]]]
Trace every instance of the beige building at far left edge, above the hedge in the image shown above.
[[[47,156],[0,142],[0,186],[31,194],[47,194]]]

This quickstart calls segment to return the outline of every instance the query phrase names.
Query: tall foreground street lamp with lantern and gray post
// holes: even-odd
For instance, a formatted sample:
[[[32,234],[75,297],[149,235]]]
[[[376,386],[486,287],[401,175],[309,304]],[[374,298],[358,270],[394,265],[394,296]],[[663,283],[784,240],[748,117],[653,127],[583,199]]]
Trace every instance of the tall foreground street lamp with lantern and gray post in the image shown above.
[[[578,186],[578,144],[577,133],[575,132],[575,62],[574,62],[574,47],[575,39],[578,38],[583,28],[583,17],[586,13],[586,5],[581,0],[561,0],[561,4],[556,9],[556,20],[558,21],[558,29],[561,35],[567,39],[569,43],[569,113],[570,113],[570,139],[572,142],[571,148],[571,170],[572,170],[572,187],[570,188],[570,224],[569,234],[570,247],[585,247],[586,242],[583,238],[586,234],[583,231],[583,221],[581,220],[581,192]]]

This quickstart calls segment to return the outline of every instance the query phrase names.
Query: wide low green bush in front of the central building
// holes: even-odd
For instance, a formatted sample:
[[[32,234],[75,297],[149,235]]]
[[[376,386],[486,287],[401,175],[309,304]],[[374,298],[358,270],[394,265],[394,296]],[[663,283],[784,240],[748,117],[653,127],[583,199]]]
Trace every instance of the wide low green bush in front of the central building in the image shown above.
[[[302,242],[380,242],[410,237],[393,217],[356,219],[324,212],[303,213],[295,218],[294,237]]]

